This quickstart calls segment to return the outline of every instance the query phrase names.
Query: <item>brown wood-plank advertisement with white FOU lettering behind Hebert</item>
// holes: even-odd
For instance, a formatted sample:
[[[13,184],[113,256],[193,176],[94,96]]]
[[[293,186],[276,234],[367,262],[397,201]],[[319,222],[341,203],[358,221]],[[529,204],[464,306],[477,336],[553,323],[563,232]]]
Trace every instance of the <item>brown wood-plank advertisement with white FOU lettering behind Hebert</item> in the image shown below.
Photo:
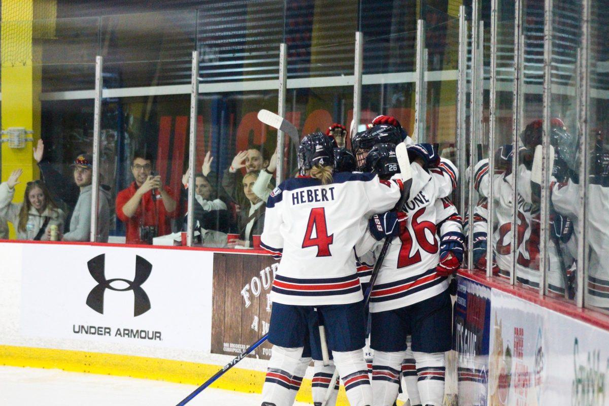
[[[269,332],[270,287],[278,261],[268,255],[214,254],[211,352],[237,355]],[[269,359],[266,342],[252,357]]]

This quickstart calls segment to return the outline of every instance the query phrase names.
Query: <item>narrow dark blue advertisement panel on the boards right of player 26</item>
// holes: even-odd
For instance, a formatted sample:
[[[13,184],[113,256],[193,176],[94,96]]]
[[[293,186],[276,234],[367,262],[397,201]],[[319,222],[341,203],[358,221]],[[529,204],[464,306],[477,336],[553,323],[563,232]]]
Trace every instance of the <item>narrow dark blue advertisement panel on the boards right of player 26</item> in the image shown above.
[[[459,405],[487,404],[491,289],[459,278],[454,307]]]

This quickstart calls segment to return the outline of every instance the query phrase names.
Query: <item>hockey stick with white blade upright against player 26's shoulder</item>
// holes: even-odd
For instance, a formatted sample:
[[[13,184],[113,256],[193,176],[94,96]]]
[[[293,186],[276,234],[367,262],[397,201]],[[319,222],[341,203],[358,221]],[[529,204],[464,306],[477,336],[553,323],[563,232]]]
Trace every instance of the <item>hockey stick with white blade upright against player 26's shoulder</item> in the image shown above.
[[[400,142],[400,144],[396,145],[395,155],[396,158],[398,158],[398,166],[400,166],[402,183],[404,184],[400,200],[398,200],[398,204],[395,205],[395,210],[401,211],[404,207],[404,203],[406,203],[406,201],[410,197],[410,187],[412,187],[412,170],[410,169],[410,159],[408,159],[408,152],[406,144],[404,144],[404,142]],[[375,286],[376,279],[379,275],[379,270],[381,269],[381,265],[385,260],[385,255],[387,255],[387,250],[389,250],[389,245],[391,245],[392,240],[393,237],[385,237],[385,241],[382,244],[381,252],[379,253],[378,258],[376,259],[375,267],[372,270],[372,275],[370,276],[370,287],[368,287],[368,290],[364,295],[364,308],[368,306],[368,303],[370,303],[372,289]],[[332,374],[332,379],[330,380],[330,384],[328,386],[328,389],[326,390],[326,396],[323,398],[322,406],[326,406],[326,404],[328,404],[328,401],[332,396],[332,392],[334,390],[334,385],[336,385],[336,381],[338,380],[338,378],[338,369],[334,369],[334,374]]]

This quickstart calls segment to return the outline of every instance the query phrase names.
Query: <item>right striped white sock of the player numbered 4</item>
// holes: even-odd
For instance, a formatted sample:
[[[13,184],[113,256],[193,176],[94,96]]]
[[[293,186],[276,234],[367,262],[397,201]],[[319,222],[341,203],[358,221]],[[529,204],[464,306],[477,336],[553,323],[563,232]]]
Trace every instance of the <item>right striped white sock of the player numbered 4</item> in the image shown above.
[[[339,352],[332,351],[334,365],[347,391],[347,399],[351,406],[370,406],[372,390],[368,378],[368,368],[364,360],[364,351]]]

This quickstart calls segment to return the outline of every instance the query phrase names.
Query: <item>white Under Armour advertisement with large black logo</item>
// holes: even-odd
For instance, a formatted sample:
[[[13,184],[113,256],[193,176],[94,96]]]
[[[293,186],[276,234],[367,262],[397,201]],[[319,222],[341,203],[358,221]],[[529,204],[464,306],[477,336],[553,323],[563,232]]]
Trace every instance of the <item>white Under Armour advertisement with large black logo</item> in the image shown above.
[[[213,253],[23,245],[26,337],[209,351]]]

